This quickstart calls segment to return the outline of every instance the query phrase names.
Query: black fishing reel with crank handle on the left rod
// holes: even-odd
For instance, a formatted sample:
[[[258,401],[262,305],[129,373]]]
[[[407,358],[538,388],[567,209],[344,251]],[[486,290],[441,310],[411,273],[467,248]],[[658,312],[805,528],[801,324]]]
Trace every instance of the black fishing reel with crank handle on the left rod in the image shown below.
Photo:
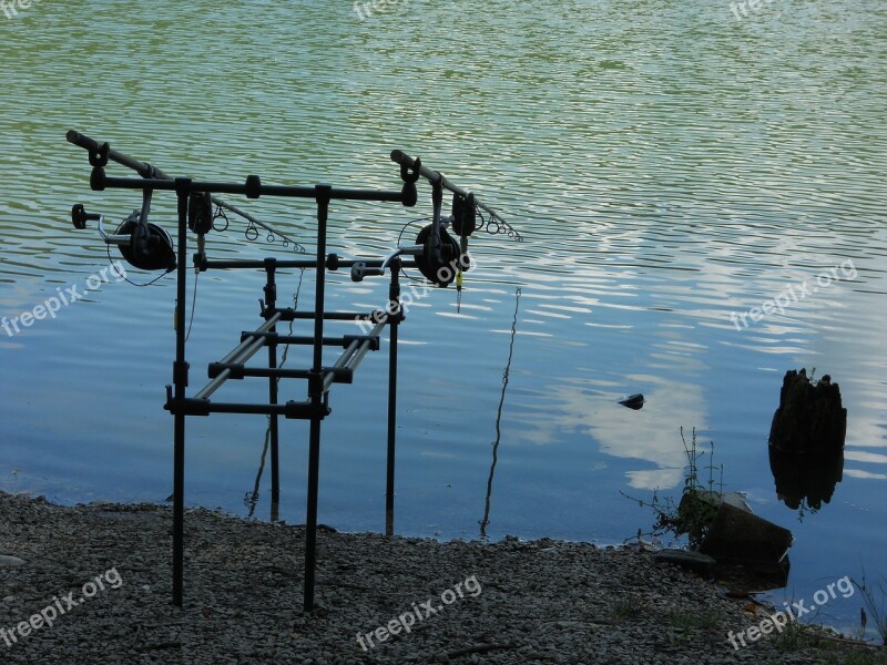
[[[106,245],[116,245],[126,263],[142,270],[169,273],[176,265],[173,239],[163,227],[147,221],[151,194],[150,190],[144,192],[142,208],[133,211],[113,234],[104,229],[104,215],[88,213],[80,203],[71,208],[71,222],[79,229],[86,228],[89,221],[98,222],[99,235]]]

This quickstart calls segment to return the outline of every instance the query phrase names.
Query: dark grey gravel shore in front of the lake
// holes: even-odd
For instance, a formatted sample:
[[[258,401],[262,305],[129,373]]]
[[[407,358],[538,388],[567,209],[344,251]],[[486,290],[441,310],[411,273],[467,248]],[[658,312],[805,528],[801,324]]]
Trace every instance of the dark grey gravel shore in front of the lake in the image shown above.
[[[302,528],[191,509],[185,529],[180,610],[169,507],[0,493],[0,662],[885,662],[791,625],[734,648],[763,615],[629,549],[323,531],[303,615]]]

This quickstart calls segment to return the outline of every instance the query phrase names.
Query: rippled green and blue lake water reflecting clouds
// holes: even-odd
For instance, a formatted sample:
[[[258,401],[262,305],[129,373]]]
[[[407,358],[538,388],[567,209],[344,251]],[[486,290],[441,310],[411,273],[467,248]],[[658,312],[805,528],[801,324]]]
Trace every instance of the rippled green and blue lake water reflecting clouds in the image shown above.
[[[622,542],[652,515],[621,491],[680,495],[680,428],[695,428],[725,489],[795,534],[777,603],[863,569],[880,579],[887,6],[735,9],[412,0],[361,20],[345,1],[75,0],[0,13],[0,315],[83,291],[108,266],[95,231],[71,227],[72,204],[114,221],[139,206],[133,192],[90,191],[69,129],[202,180],[398,188],[389,152],[420,154],[526,241],[472,237],[460,313],[441,289],[401,327],[397,533],[480,535],[498,431],[490,538]],[[419,194],[416,209],[335,203],[329,249],[386,253],[430,215],[427,184]],[[310,202],[232,203],[310,248]],[[172,231],[174,207],[157,194],[152,219]],[[212,234],[210,257],[292,256],[243,231]],[[385,280],[329,280],[330,308],[385,301]],[[261,323],[262,284],[201,276],[192,391]],[[297,284],[283,275],[281,298]],[[0,332],[0,489],[63,503],[171,493],[174,286],[111,278],[54,319]],[[306,274],[302,308],[312,287]],[[750,317],[774,298],[782,311]],[[782,502],[768,461],[782,377],[801,367],[829,374],[848,410],[842,480],[819,511]],[[385,525],[386,368],[374,354],[332,392],[319,519],[339,530]],[[616,403],[634,392],[643,409]],[[283,397],[304,397],[303,382]],[[188,419],[187,503],[248,514],[264,431],[258,417]],[[306,433],[283,424],[288,522],[305,519]],[[266,473],[263,518],[268,494]],[[859,604],[838,597],[818,618],[854,630]]]

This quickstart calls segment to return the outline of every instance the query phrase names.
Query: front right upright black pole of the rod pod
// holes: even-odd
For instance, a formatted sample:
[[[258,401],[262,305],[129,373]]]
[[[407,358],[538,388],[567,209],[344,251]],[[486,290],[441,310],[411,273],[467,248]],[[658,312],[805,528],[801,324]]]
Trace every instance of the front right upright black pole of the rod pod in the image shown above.
[[[305,519],[305,591],[303,611],[314,610],[314,579],[317,554],[317,489],[320,472],[320,420],[324,417],[324,288],[326,270],[326,224],[329,214],[329,185],[317,185],[317,282],[314,289],[314,362],[308,390],[312,423],[308,441],[308,498]]]

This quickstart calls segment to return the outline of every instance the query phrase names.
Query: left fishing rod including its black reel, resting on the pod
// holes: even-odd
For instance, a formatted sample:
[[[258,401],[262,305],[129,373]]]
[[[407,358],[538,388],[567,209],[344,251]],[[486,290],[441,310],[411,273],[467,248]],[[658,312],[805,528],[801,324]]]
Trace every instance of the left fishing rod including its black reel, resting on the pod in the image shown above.
[[[108,143],[99,143],[94,139],[91,139],[90,136],[81,134],[74,130],[70,130],[65,134],[65,139],[69,143],[89,151],[91,161],[92,155],[101,154],[106,156],[109,160],[113,160],[118,164],[121,164],[122,166],[132,168],[143,178],[175,180],[174,176],[164,173],[147,162],[135,160],[120,151],[114,150]],[[83,206],[74,206],[75,209],[72,211],[74,226],[77,228],[84,228],[88,219],[99,221],[99,233],[102,235],[105,243],[110,245],[118,245],[121,254],[123,254],[126,260],[133,263],[133,259],[135,259],[136,263],[133,263],[133,265],[136,267],[144,266],[144,269],[147,270],[160,268],[173,269],[175,267],[175,257],[172,248],[172,238],[165,231],[163,231],[163,228],[147,222],[147,215],[151,208],[151,190],[144,190],[141,211],[139,211],[137,214],[133,213],[126,217],[115,234],[106,234],[102,227],[103,216],[86,215],[83,212]],[[194,196],[193,207],[188,211],[188,214],[194,219],[194,224],[192,224],[192,226],[204,228],[205,233],[210,231],[207,225],[212,227],[212,223],[216,217],[222,216],[227,219],[225,214],[221,211],[217,211],[215,214],[213,214],[213,205],[217,206],[217,208],[221,208],[222,211],[228,211],[246,219],[251,225],[246,229],[246,237],[248,239],[256,239],[258,237],[258,231],[256,227],[261,227],[268,232],[269,238],[275,236],[283,238],[284,247],[292,244],[295,252],[299,254],[305,253],[305,247],[286,234],[281,233],[271,225],[261,222],[254,215],[251,215],[249,213],[231,205],[217,196],[212,196],[208,194],[203,197],[198,195]],[[192,228],[192,231],[195,231],[195,228]],[[143,264],[143,266],[140,266],[139,263]]]

